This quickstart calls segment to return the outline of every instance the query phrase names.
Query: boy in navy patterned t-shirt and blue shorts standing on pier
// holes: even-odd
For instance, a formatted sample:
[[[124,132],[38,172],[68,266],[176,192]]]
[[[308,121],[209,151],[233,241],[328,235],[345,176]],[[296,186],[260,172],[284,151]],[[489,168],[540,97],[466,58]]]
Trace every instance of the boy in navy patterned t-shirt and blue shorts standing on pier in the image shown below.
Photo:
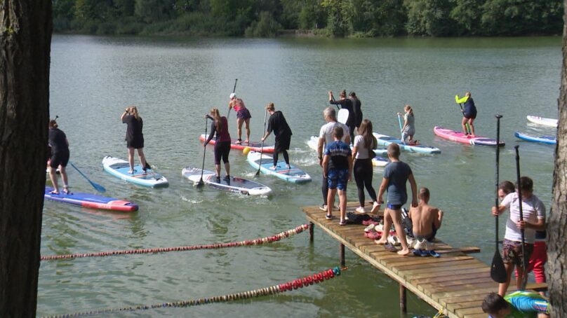
[[[347,225],[347,184],[352,179],[352,153],[349,144],[341,141],[342,128],[333,129],[333,142],[325,147],[323,157],[323,177],[327,178],[327,214],[325,219],[333,219],[333,201],[339,193],[340,226]]]

